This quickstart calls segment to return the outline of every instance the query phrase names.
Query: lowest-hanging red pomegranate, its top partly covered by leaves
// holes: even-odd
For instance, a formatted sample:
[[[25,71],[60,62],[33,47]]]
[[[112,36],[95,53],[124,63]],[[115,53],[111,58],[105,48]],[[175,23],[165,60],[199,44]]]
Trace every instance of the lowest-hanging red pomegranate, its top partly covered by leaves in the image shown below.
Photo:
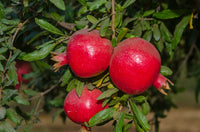
[[[68,93],[64,101],[65,114],[75,123],[84,124],[99,111],[108,108],[102,107],[103,100],[96,100],[102,92],[98,89],[92,91],[83,88],[80,98],[75,88]]]

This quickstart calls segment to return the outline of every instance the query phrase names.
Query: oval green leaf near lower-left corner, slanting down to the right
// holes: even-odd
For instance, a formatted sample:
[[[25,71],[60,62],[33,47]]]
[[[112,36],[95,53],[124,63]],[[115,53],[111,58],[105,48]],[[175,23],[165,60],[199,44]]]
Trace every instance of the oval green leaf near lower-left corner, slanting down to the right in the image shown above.
[[[14,111],[13,109],[7,109],[6,115],[7,115],[8,119],[10,119],[12,122],[16,123],[17,125],[20,124],[20,118],[19,118],[17,112]]]

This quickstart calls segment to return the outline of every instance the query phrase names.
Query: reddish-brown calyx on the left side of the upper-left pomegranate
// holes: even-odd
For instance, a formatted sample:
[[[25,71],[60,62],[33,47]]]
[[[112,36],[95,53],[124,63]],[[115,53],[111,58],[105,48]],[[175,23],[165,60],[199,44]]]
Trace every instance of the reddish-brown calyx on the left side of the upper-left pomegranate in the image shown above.
[[[51,57],[52,57],[51,60],[56,62],[53,65],[53,69],[55,72],[57,72],[60,67],[68,64],[66,52],[64,53],[51,52]]]

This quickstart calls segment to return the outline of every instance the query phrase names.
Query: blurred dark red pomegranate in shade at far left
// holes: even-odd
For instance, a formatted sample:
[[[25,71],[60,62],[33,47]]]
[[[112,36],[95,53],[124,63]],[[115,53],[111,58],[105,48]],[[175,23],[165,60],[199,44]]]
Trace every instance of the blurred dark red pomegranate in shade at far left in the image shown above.
[[[21,83],[28,83],[31,79],[23,79],[22,74],[28,74],[33,71],[32,66],[27,61],[16,60],[16,68],[17,68],[17,77],[18,84],[15,85],[15,88],[19,89]]]

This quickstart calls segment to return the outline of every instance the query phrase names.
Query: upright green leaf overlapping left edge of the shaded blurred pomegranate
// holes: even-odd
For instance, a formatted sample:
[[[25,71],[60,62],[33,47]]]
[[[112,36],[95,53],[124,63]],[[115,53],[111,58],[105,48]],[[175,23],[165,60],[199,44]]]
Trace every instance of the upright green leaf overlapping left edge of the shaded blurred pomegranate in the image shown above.
[[[9,80],[13,81],[13,84],[18,84],[18,76],[17,76],[17,68],[15,67],[15,62],[10,64],[9,70],[8,70],[8,78]]]

